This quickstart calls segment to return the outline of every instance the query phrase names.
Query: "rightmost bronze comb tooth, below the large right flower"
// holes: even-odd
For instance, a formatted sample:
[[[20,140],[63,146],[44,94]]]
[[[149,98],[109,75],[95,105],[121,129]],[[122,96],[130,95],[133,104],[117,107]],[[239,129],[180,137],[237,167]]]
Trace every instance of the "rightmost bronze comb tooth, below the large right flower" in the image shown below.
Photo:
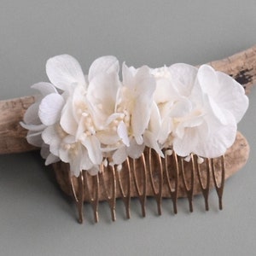
[[[214,165],[214,160],[211,160],[211,166],[212,166],[212,177],[213,177],[213,183],[215,186],[215,189],[217,191],[217,195],[218,195],[218,208],[219,210],[223,209],[223,205],[222,205],[222,196],[223,196],[223,191],[224,191],[224,180],[225,180],[225,163],[224,163],[224,155],[221,156],[221,167],[220,167],[220,182],[218,184],[218,177],[216,175],[216,168]]]

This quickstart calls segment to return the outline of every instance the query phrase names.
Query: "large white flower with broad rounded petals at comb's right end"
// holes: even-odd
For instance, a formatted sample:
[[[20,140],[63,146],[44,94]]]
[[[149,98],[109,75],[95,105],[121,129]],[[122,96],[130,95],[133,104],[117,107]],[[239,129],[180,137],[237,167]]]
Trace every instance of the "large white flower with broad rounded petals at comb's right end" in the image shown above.
[[[246,112],[241,84],[210,66],[174,64],[154,70],[154,99],[160,108],[160,143],[178,155],[218,157],[234,143],[236,123]]]

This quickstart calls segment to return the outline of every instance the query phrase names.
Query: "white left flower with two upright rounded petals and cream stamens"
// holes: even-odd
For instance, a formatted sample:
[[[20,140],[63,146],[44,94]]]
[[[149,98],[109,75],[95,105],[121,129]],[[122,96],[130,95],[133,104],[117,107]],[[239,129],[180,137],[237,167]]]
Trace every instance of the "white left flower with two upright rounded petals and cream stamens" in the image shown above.
[[[49,80],[61,90],[66,103],[61,115],[43,132],[49,150],[70,163],[76,176],[82,170],[99,170],[102,164],[101,140],[109,119],[114,115],[116,95],[119,90],[119,65],[115,57],[97,59],[84,78],[79,62],[69,55],[59,55],[46,64]],[[50,108],[47,102],[42,109]],[[112,116],[113,115],[113,116]],[[47,117],[45,115],[46,121]],[[99,133],[99,135],[98,135]],[[105,136],[106,137],[106,136]]]

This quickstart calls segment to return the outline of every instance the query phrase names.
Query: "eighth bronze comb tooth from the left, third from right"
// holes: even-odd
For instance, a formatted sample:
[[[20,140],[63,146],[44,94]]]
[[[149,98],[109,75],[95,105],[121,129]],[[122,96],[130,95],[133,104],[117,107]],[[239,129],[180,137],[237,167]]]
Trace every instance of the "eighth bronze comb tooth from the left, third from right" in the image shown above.
[[[193,212],[193,190],[194,190],[194,174],[195,174],[195,160],[194,160],[194,155],[190,154],[191,158],[191,168],[190,169],[190,188],[188,187],[188,183],[186,182],[186,175],[185,175],[185,168],[184,168],[184,160],[183,158],[181,159],[181,170],[182,170],[182,179],[183,179],[183,184],[184,184],[184,189],[186,191],[186,194],[188,196],[189,200],[189,212]]]

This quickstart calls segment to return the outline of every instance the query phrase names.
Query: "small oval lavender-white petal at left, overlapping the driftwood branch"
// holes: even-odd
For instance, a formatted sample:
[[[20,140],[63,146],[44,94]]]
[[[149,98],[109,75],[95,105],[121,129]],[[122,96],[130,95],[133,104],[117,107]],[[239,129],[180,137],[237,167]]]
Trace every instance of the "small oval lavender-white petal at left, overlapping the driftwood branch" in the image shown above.
[[[45,96],[39,106],[38,116],[44,125],[54,125],[61,117],[64,99],[57,93]]]

